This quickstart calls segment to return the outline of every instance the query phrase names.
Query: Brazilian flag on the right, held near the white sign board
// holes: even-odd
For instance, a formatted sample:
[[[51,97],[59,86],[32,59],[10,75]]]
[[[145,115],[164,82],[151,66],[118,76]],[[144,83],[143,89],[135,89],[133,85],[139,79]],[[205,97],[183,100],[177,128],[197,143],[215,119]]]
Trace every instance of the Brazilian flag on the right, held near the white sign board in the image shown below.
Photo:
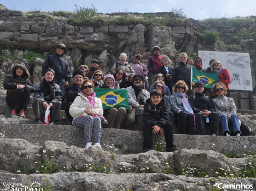
[[[204,73],[192,66],[191,82],[197,81],[203,82],[204,87],[212,87],[214,84],[219,83],[219,72]]]

